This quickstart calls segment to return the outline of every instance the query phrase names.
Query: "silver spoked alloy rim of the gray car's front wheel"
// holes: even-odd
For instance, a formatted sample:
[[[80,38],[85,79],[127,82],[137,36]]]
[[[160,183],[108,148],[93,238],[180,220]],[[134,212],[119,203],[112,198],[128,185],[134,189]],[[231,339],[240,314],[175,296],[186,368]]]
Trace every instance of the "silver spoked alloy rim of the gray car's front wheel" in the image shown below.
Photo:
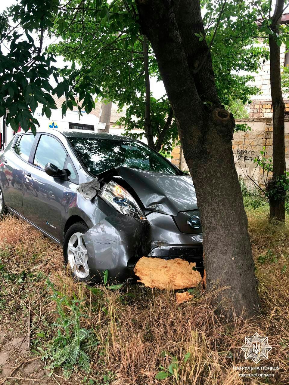
[[[82,233],[74,233],[67,246],[69,267],[77,278],[89,276],[88,255]]]

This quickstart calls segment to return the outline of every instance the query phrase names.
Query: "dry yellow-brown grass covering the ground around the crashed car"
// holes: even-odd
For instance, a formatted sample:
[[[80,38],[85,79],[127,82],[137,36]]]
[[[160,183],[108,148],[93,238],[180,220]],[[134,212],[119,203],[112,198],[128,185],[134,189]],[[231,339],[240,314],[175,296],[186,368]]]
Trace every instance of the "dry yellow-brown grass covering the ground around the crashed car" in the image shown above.
[[[47,336],[55,333],[51,327],[57,316],[55,303],[50,301],[44,285],[45,276],[49,275],[66,298],[72,300],[76,296],[84,300],[82,313],[88,317],[82,318],[81,324],[92,328],[99,342],[91,352],[88,375],[97,384],[289,383],[289,227],[272,228],[264,214],[254,213],[249,215],[249,231],[264,312],[259,318],[244,321],[236,317],[227,319],[225,309],[217,313],[211,305],[213,293],[201,290],[195,290],[193,299],[181,305],[176,304],[173,292],[138,285],[125,285],[119,291],[100,287],[98,293],[93,293],[67,276],[59,247],[25,222],[6,217],[0,228],[2,264],[10,273],[25,270],[29,274],[23,283],[5,284],[5,306],[0,307],[2,329],[15,330],[11,322],[15,313],[23,323],[27,315],[23,303],[30,301],[35,346],[41,343],[35,337],[37,331],[42,330]],[[40,301],[41,321],[33,328],[39,319]],[[70,311],[67,307],[65,310]],[[260,362],[260,366],[279,366],[279,371],[272,371],[274,378],[244,379],[233,368],[255,366],[244,360],[240,346],[245,336],[256,331],[268,336],[273,347],[269,360]],[[46,343],[42,341],[42,347]],[[172,362],[176,363],[175,375],[156,380],[159,366],[168,368]],[[76,372],[65,383],[80,383],[84,375]],[[107,376],[105,380],[103,375]],[[61,378],[57,380],[62,382]]]

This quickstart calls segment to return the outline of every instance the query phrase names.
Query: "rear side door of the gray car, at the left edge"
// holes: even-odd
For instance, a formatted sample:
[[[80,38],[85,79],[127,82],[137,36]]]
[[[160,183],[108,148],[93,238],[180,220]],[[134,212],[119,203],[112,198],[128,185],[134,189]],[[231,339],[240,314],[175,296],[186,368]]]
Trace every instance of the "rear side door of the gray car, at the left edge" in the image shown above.
[[[32,133],[17,135],[13,148],[3,153],[0,167],[1,185],[5,204],[13,212],[23,215],[22,183],[24,171],[34,147],[35,137]]]

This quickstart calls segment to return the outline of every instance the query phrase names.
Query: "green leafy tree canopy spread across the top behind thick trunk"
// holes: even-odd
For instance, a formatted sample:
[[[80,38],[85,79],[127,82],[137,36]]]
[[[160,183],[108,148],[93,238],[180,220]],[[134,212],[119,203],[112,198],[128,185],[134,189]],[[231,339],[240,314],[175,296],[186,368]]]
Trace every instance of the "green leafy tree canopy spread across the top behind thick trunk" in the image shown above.
[[[255,12],[239,0],[203,0],[201,5],[205,35],[199,41],[205,38],[209,45],[218,97],[225,108],[235,100],[245,104],[258,89],[247,85],[251,77],[240,71],[257,70],[260,58],[267,56],[254,45]],[[35,132],[32,114],[38,103],[50,117],[56,108],[51,94],[65,95],[63,114],[77,104],[79,112],[90,112],[98,96],[117,102],[120,109],[127,106],[120,123],[128,135],[141,137],[141,132],[131,130],[144,128],[149,144],[158,151],[171,150],[178,139],[176,122],[167,96],[156,100],[146,83],[146,67],[149,77],[161,76],[150,44],[144,46],[134,2],[22,0],[2,13],[0,28],[6,47],[0,53],[0,114],[9,110],[7,124],[15,131],[20,125]],[[45,37],[58,42],[43,48]],[[57,69],[55,55],[70,60],[71,67]]]

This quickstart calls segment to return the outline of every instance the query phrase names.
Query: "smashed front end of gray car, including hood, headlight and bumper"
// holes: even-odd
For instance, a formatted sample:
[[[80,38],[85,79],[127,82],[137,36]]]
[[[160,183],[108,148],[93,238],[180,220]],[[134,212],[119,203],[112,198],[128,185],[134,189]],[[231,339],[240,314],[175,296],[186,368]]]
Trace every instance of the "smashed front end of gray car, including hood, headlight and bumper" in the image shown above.
[[[192,179],[129,167],[104,171],[91,196],[106,215],[83,235],[91,277],[134,280],[143,256],[195,263],[203,275],[202,227]]]

